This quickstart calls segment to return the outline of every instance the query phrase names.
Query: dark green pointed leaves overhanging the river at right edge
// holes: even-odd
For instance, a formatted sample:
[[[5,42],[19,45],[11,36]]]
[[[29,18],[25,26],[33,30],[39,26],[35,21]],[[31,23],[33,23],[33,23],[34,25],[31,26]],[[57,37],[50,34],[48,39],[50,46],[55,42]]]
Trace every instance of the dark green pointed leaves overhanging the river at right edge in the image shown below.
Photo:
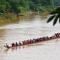
[[[54,11],[52,11],[50,14],[51,14],[52,16],[50,16],[50,17],[48,18],[47,23],[49,23],[49,22],[52,21],[52,20],[54,20],[54,21],[53,21],[53,25],[56,24],[57,20],[59,20],[59,23],[60,23],[60,7],[56,8],[56,9],[55,9]]]

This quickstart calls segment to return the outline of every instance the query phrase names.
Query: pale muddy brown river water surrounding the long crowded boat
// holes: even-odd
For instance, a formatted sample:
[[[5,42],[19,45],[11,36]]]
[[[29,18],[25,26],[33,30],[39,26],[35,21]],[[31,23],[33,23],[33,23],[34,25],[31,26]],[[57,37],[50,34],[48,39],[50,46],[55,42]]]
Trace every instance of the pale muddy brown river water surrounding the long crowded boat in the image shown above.
[[[52,26],[52,22],[46,23],[46,20],[41,20],[36,16],[32,20],[22,20],[18,24],[9,24],[0,27],[0,60],[58,60],[58,57],[54,58],[60,50],[60,43],[48,43],[44,45],[37,44],[32,46],[23,46],[13,48],[5,51],[3,45],[5,43],[18,42],[26,39],[33,39],[42,36],[51,36],[56,32],[60,32],[60,26],[57,23],[56,26]],[[26,48],[24,48],[26,47]],[[30,48],[29,48],[30,47]],[[23,49],[22,49],[23,48]],[[17,50],[16,50],[17,49]],[[49,53],[50,52],[50,53]],[[51,55],[52,54],[52,55]],[[35,58],[33,58],[35,57]]]

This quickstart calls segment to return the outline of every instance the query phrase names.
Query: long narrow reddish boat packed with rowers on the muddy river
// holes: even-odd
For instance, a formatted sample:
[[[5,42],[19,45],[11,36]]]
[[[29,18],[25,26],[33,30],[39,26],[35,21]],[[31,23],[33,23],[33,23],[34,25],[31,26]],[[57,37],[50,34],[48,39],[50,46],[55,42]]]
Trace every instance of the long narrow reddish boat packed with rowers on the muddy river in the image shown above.
[[[56,39],[56,38],[60,38],[60,33],[56,33],[54,36],[51,37],[41,37],[41,38],[37,38],[37,39],[29,39],[29,40],[24,40],[22,42],[19,43],[12,43],[11,46],[9,46],[7,43],[5,45],[6,48],[11,48],[11,47],[17,47],[17,46],[23,46],[23,45],[28,45],[28,44],[33,44],[33,43],[38,43],[38,42],[42,42],[42,41],[48,41],[48,40],[52,40],[52,39]]]

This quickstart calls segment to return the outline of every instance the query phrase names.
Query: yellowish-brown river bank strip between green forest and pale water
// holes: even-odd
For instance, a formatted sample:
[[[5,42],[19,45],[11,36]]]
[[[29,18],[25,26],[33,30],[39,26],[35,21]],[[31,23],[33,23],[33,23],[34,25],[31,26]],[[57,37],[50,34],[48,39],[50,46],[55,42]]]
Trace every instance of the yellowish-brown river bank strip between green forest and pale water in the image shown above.
[[[18,23],[20,20],[23,19],[32,19],[36,15],[40,16],[41,18],[46,18],[48,16],[48,12],[37,13],[37,12],[25,12],[20,13],[18,16],[15,13],[7,12],[4,15],[0,16],[0,26]]]

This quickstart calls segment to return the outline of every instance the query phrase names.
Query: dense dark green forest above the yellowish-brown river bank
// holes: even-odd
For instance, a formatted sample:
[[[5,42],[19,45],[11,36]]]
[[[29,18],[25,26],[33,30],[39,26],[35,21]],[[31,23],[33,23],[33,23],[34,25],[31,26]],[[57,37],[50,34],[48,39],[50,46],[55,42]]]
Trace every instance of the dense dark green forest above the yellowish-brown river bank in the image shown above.
[[[7,12],[19,13],[51,11],[59,6],[59,0],[0,0],[0,15]]]

